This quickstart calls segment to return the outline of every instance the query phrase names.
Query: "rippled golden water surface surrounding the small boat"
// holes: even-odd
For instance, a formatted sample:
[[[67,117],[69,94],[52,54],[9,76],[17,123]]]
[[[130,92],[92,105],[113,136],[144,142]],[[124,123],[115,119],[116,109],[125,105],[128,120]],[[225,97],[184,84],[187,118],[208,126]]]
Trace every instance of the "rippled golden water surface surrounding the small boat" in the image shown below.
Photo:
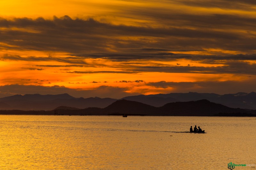
[[[182,133],[191,125],[207,133]],[[251,117],[0,115],[0,129],[0,169],[200,170],[256,164]],[[244,168],[249,167],[236,170]]]

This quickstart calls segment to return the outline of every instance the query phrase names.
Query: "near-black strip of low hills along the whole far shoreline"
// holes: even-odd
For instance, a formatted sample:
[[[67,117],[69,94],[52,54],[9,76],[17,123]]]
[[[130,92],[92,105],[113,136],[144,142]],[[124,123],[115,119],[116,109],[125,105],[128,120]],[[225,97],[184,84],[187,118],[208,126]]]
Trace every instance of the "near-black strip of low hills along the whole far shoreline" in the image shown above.
[[[50,111],[0,110],[0,114],[63,114],[63,115],[140,115],[140,116],[254,116],[256,110],[229,108],[208,100],[167,103],[162,107],[117,100],[105,108],[88,107],[77,109],[61,106]]]

